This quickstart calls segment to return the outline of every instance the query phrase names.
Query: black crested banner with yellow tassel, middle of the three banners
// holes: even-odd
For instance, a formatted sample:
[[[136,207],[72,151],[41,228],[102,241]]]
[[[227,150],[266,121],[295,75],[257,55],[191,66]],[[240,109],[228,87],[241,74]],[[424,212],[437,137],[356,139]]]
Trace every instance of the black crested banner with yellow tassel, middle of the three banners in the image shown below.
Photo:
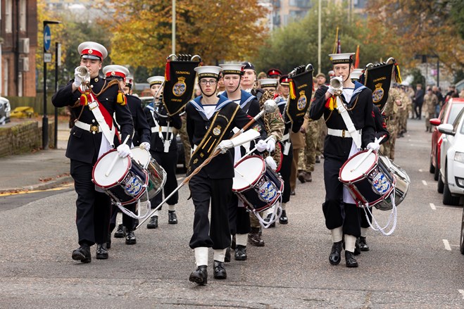
[[[290,94],[285,112],[289,120],[294,123],[301,120],[308,111],[313,95],[313,70],[304,70],[294,76],[289,75],[289,80]]]

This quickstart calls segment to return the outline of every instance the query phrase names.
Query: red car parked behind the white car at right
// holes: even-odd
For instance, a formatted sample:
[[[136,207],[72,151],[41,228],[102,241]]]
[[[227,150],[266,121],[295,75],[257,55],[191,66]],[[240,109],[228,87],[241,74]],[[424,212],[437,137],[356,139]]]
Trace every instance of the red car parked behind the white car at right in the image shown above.
[[[434,125],[432,132],[432,149],[430,150],[430,168],[429,172],[434,174],[434,179],[438,180],[440,172],[440,145],[441,133],[437,127],[444,123],[453,124],[461,109],[464,108],[464,99],[451,98],[448,103],[441,108],[438,118],[430,119],[430,124]]]

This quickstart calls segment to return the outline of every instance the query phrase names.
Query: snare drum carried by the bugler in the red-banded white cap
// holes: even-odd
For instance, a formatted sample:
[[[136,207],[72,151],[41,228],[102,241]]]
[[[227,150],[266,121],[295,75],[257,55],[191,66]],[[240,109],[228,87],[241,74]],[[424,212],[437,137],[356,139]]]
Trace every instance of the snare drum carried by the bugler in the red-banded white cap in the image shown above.
[[[129,156],[116,158],[118,156],[118,151],[115,149],[101,156],[92,170],[92,181],[96,187],[103,189],[110,196],[113,203],[127,205],[136,202],[144,195],[149,184],[149,175]],[[106,176],[113,160],[115,165]]]

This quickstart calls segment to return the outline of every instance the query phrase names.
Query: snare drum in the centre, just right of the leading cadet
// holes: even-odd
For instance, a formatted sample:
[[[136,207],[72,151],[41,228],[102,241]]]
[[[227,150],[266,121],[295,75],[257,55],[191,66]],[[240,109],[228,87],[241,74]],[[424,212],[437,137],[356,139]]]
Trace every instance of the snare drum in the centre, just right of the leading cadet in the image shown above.
[[[232,191],[245,207],[260,212],[274,206],[282,196],[284,182],[260,156],[246,156],[234,166]]]

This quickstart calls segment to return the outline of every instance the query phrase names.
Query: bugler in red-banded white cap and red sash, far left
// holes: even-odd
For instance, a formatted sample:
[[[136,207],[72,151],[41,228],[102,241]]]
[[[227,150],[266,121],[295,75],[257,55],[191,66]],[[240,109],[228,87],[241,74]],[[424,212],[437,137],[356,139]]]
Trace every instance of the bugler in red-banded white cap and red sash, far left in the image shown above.
[[[94,244],[97,244],[96,258],[108,258],[106,242],[111,214],[110,198],[96,191],[92,169],[100,156],[120,144],[112,115],[120,125],[121,140],[132,136],[134,127],[129,108],[123,102],[118,103],[118,83],[99,77],[102,61],[108,56],[106,48],[95,42],[84,42],[77,51],[80,53],[80,65],[87,68],[88,75],[83,77],[82,70],[76,68],[75,79],[59,89],[51,101],[57,107],[71,106],[71,112],[77,119],[66,149],[77,193],[76,225],[80,244],[73,251],[72,258],[89,263],[92,260],[89,247]],[[82,82],[89,85],[83,96],[80,91]],[[104,120],[98,120],[102,119],[100,115]],[[127,144],[118,146],[118,153],[121,157],[132,154]]]

